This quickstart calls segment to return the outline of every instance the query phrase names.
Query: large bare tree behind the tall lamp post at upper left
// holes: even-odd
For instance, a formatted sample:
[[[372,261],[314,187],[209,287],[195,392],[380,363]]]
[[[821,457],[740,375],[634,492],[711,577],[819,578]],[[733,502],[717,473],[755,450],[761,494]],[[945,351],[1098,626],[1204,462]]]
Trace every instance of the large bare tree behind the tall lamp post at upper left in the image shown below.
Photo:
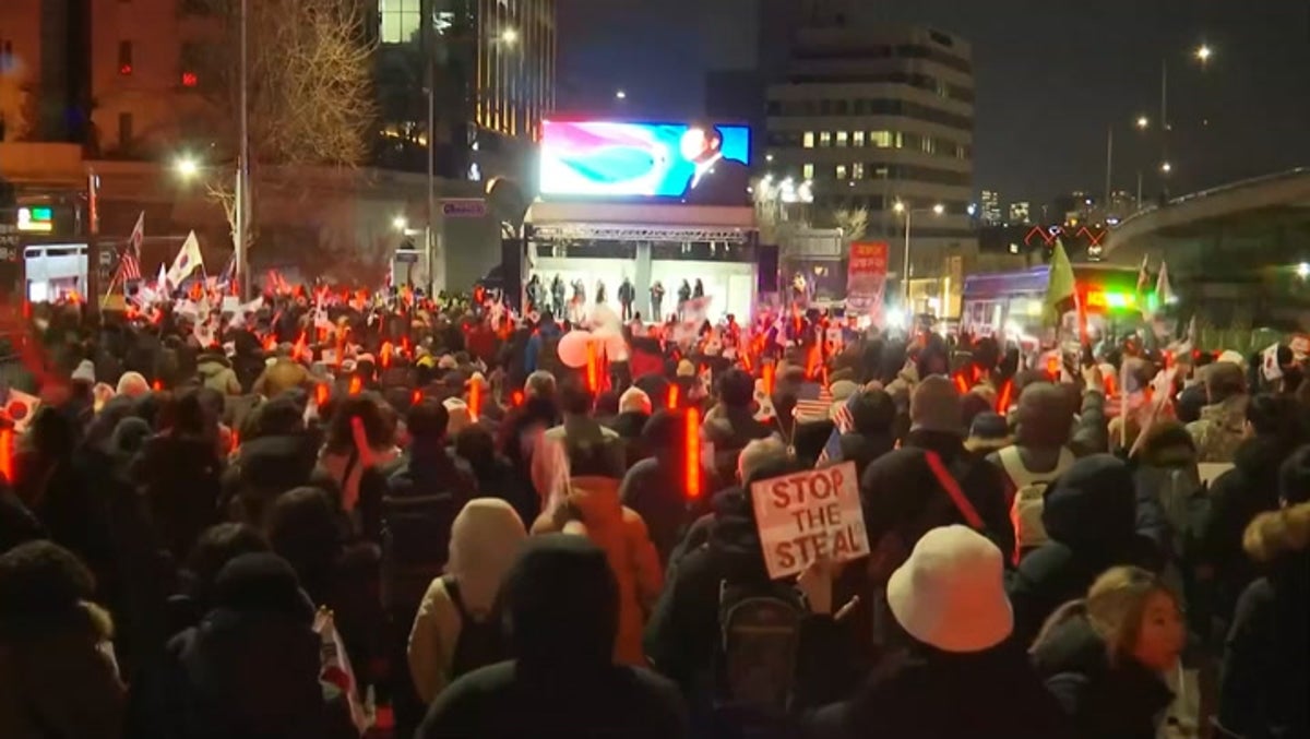
[[[219,34],[206,47],[202,90],[219,115],[211,123],[221,157],[238,151],[241,68],[240,0],[204,0]],[[376,118],[373,43],[358,0],[255,0],[249,3],[248,110],[250,189],[261,165],[356,166],[369,153]],[[234,231],[233,169],[207,186]],[[252,198],[253,199],[253,198]],[[252,224],[253,227],[254,224]]]

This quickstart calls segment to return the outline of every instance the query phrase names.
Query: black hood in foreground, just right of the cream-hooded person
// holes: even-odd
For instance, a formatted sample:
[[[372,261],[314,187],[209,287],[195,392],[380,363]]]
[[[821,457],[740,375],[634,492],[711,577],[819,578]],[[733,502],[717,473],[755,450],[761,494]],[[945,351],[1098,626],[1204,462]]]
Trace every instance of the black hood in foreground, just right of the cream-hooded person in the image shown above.
[[[610,664],[618,583],[588,539],[532,537],[506,577],[503,596],[520,668],[555,675]]]

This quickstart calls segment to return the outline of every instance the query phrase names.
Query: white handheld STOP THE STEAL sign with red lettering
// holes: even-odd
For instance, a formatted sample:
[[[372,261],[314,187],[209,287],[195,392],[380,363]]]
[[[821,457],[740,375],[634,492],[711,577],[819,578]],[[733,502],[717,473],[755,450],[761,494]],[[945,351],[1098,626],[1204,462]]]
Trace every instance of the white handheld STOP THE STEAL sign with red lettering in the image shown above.
[[[855,464],[798,472],[751,485],[769,577],[794,575],[820,557],[869,556]]]

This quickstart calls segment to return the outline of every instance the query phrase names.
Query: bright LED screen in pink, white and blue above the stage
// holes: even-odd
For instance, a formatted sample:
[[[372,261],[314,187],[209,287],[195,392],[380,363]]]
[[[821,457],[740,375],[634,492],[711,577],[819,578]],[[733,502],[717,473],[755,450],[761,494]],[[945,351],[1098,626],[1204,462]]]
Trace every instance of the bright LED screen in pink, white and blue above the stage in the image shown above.
[[[541,197],[747,204],[751,128],[546,121]]]

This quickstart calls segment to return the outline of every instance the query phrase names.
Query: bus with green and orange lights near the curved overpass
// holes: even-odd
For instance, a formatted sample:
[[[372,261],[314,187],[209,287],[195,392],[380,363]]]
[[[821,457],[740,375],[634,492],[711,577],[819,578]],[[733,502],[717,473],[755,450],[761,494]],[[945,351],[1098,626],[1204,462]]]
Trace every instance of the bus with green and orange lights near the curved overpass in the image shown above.
[[[1098,341],[1114,333],[1117,322],[1136,325],[1142,305],[1137,295],[1137,270],[1114,265],[1074,265],[1078,300],[1087,316],[1087,338]],[[973,337],[1003,334],[1026,345],[1052,346],[1056,334],[1043,325],[1041,307],[1051,282],[1051,267],[1041,266],[1015,273],[990,273],[964,278],[960,332]],[[1145,296],[1154,308],[1154,294]],[[1061,337],[1078,337],[1078,316],[1070,311],[1061,317]]]

